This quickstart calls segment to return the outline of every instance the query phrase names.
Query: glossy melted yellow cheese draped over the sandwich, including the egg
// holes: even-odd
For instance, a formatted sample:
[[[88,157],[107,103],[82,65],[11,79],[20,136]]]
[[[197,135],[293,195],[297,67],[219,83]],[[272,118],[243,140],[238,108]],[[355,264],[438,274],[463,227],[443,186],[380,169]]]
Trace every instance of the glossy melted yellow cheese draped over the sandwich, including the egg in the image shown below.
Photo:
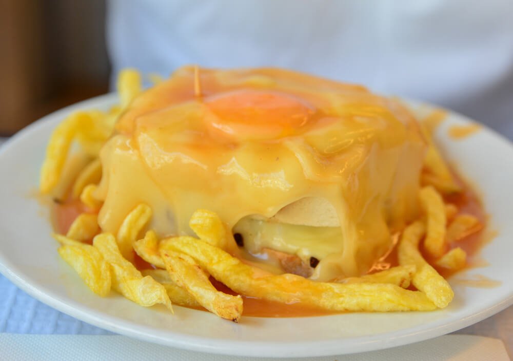
[[[319,254],[312,278],[330,280],[365,273],[389,248],[390,230],[417,216],[425,152],[417,123],[363,87],[279,69],[201,70],[195,81],[185,67],[136,98],[116,130],[101,152],[105,231],[141,202],[153,209],[150,227],[169,236],[190,234],[198,208],[231,228],[324,199],[338,219],[334,239],[305,236],[282,249]],[[323,225],[304,208],[310,227]],[[234,243],[228,250],[241,254]]]

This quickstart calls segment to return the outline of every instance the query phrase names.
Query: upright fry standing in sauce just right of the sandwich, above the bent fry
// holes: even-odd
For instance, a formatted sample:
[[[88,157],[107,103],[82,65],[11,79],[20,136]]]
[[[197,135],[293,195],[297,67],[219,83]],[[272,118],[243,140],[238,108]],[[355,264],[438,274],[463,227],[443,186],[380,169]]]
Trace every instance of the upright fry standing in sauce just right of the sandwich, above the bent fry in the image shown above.
[[[421,189],[421,206],[426,214],[427,235],[424,240],[426,251],[433,257],[440,257],[445,248],[445,205],[442,197],[432,186]]]

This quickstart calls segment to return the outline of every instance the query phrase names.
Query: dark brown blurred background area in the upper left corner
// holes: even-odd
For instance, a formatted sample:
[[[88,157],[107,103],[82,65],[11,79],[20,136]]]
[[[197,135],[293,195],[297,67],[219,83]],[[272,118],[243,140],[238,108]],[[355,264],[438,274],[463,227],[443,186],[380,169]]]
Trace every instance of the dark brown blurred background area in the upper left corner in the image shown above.
[[[105,0],[0,1],[0,136],[108,92]]]

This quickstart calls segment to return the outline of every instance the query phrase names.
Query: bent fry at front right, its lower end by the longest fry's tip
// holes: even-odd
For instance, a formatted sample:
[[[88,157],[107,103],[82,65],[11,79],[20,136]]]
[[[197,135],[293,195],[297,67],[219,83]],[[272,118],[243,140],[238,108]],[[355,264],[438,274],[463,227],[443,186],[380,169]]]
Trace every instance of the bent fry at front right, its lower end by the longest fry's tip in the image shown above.
[[[437,307],[444,308],[452,301],[454,292],[449,283],[424,260],[419,251],[419,243],[425,229],[421,221],[413,222],[404,229],[397,250],[399,264],[415,265],[417,271],[413,274],[413,286],[424,292]]]

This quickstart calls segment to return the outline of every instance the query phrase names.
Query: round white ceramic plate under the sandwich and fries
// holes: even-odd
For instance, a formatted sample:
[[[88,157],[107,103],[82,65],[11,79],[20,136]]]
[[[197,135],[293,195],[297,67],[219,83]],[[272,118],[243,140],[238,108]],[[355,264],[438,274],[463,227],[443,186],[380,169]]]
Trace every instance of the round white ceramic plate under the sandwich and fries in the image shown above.
[[[498,236],[482,251],[489,266],[459,278],[481,275],[501,282],[472,288],[451,281],[454,301],[435,312],[346,313],[320,317],[243,317],[240,324],[211,313],[174,307],[143,308],[112,295],[88,290],[57,255],[48,218],[33,195],[46,142],[54,126],[77,109],[106,109],[106,95],[73,105],[30,125],[0,150],[0,271],[36,299],[107,330],[179,348],[246,356],[321,356],[371,351],[422,341],[458,330],[513,303],[513,147],[482,129],[463,140],[446,136],[468,119],[450,114],[438,129],[449,159],[475,184]]]

